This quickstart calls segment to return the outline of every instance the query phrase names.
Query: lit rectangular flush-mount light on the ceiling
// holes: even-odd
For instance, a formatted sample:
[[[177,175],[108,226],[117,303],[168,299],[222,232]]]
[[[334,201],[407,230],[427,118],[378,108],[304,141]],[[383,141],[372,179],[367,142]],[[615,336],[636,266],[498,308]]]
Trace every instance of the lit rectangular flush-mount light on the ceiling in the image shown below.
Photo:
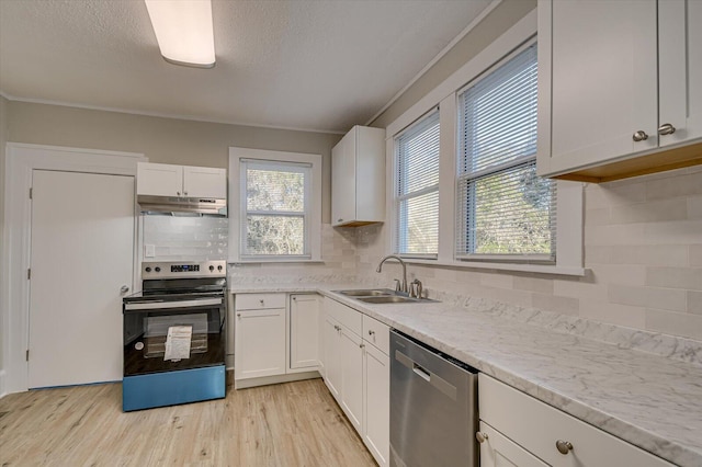
[[[215,66],[211,0],[144,0],[166,61],[186,67]]]

